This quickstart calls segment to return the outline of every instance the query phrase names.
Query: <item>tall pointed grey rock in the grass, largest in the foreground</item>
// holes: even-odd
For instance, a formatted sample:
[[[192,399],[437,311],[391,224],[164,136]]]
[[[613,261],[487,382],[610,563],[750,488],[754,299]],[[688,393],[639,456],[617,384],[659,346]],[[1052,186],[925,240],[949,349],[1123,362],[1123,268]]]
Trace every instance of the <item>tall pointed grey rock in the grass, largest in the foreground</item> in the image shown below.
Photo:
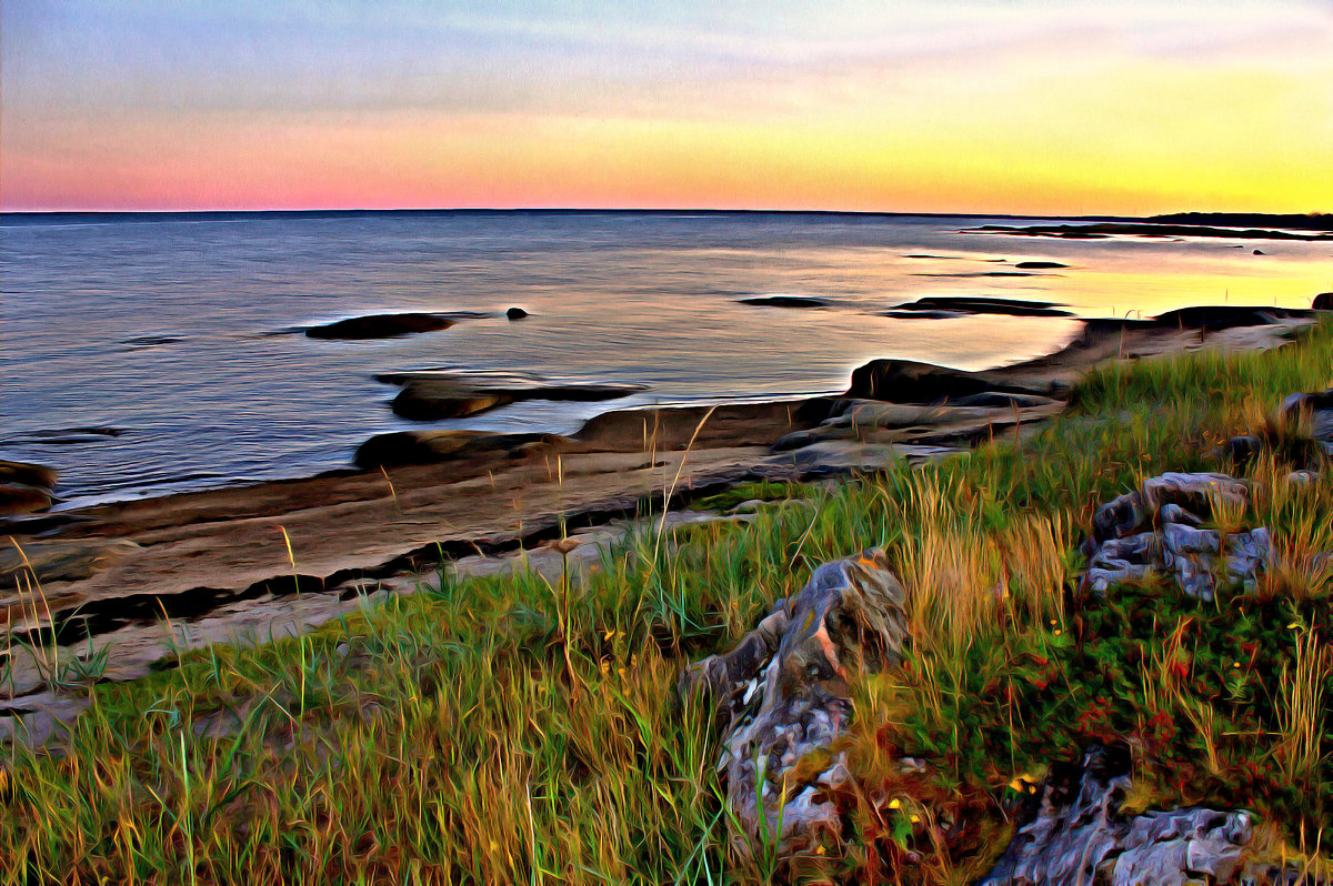
[[[792,853],[837,839],[842,826],[828,793],[850,779],[844,754],[800,775],[798,763],[842,733],[852,713],[849,673],[900,664],[905,597],[882,550],[825,564],[732,652],[681,677],[682,694],[705,693],[721,711],[720,769],[741,825],[741,853],[760,845]]]

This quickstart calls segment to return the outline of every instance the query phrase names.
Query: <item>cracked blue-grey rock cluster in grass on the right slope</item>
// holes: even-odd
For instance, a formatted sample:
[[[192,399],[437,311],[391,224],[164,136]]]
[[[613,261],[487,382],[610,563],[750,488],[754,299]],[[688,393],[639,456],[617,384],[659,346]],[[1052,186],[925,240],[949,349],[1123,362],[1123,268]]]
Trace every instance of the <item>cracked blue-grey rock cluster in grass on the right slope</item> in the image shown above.
[[[1084,542],[1088,570],[1082,589],[1105,593],[1149,573],[1172,576],[1190,597],[1212,600],[1218,580],[1254,586],[1269,566],[1268,529],[1222,534],[1204,529],[1221,504],[1244,508],[1249,488],[1217,473],[1168,473],[1114,498],[1093,514]]]

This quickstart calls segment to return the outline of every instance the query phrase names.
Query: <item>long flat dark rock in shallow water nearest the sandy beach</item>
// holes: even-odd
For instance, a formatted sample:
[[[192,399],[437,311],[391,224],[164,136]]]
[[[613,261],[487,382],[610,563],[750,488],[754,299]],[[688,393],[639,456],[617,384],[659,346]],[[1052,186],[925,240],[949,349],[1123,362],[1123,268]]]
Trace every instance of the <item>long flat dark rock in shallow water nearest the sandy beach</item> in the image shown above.
[[[520,373],[448,369],[384,373],[376,380],[401,388],[393,412],[415,421],[475,416],[520,400],[591,402],[648,390],[645,385],[569,384]]]

